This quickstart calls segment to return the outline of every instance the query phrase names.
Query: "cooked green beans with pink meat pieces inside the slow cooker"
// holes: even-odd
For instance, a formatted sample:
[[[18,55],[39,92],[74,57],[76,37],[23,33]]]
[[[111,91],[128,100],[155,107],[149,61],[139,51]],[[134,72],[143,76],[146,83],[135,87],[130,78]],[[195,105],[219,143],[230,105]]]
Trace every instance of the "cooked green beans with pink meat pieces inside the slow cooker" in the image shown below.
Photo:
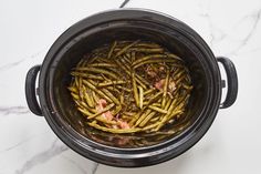
[[[147,41],[114,41],[72,69],[67,88],[86,124],[111,133],[157,132],[185,115],[192,90],[185,62]]]

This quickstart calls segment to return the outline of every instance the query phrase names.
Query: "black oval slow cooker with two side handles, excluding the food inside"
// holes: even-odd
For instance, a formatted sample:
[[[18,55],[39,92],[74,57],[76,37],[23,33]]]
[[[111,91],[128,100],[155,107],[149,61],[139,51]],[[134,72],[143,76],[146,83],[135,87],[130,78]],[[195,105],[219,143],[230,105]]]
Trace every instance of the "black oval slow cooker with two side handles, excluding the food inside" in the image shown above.
[[[195,89],[187,109],[191,119],[182,131],[150,145],[126,147],[113,145],[116,135],[82,129],[83,120],[75,116],[79,113],[66,86],[71,69],[84,53],[114,40],[134,39],[157,42],[184,58]],[[226,70],[226,80],[221,80],[218,63]],[[225,85],[227,96],[221,102]],[[73,24],[53,43],[43,63],[29,70],[25,80],[29,109],[44,116],[69,147],[95,162],[124,167],[158,164],[180,155],[203,136],[219,109],[234,103],[237,93],[237,72],[229,59],[215,58],[202,38],[184,22],[144,9],[104,11]]]

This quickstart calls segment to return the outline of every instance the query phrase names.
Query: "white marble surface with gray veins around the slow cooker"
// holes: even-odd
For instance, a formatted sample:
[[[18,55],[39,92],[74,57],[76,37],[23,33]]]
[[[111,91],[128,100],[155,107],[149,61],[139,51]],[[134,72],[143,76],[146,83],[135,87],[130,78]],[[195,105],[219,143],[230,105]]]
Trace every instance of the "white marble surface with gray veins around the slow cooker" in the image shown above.
[[[206,136],[179,157],[143,168],[97,165],[67,149],[43,117],[27,108],[24,78],[54,40],[76,21],[123,0],[0,1],[0,174],[260,174],[261,1],[130,0],[192,27],[216,55],[238,70],[237,103],[220,110]]]

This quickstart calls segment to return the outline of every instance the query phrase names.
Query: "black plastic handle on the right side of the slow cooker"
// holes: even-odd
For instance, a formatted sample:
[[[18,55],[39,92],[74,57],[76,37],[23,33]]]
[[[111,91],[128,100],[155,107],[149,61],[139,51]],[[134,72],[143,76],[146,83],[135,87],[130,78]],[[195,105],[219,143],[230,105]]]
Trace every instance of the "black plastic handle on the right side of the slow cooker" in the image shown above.
[[[237,70],[233,65],[233,62],[225,57],[218,57],[217,58],[218,62],[220,62],[225,71],[227,73],[227,80],[228,80],[228,92],[225,101],[220,104],[220,109],[227,109],[231,106],[234,101],[237,100],[238,96],[238,75],[237,75]]]

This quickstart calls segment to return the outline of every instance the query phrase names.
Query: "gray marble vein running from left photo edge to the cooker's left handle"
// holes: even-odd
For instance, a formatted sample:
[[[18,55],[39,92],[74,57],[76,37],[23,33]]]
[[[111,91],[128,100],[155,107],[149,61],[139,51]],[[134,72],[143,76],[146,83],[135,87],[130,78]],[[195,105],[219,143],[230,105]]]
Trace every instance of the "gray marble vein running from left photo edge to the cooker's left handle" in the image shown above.
[[[0,116],[9,114],[28,114],[30,113],[29,109],[25,106],[0,106]]]

